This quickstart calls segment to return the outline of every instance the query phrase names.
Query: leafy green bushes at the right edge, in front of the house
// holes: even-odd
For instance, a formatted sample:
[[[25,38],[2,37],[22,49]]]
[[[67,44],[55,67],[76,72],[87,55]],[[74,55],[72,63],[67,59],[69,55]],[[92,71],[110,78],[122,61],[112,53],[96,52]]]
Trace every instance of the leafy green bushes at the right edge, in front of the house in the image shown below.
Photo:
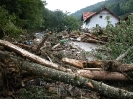
[[[120,61],[123,63],[133,63],[133,15],[129,15],[127,21],[120,21],[116,27],[108,24],[104,33],[108,35],[108,42],[103,48],[104,51],[97,53],[98,58],[104,60],[115,60],[118,56],[128,53]]]

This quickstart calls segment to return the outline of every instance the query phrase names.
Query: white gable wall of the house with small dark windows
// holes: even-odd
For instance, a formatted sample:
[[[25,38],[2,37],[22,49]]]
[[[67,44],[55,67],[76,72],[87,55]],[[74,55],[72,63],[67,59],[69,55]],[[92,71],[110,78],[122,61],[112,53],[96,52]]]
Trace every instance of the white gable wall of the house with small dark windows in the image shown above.
[[[110,16],[110,22],[113,26],[115,26],[119,20],[112,16],[108,11],[103,10],[100,13],[94,15],[90,20],[87,20],[84,26],[85,28],[93,28],[96,27],[96,25],[99,25],[100,27],[106,27],[107,26],[107,19],[106,17]]]

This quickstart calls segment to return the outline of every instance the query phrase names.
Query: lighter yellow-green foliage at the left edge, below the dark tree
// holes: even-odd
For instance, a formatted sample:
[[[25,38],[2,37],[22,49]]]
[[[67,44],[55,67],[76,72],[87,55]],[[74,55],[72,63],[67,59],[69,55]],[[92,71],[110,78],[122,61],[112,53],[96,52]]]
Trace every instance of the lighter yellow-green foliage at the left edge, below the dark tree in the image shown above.
[[[15,15],[10,15],[7,10],[0,7],[0,38],[4,35],[10,37],[17,37],[24,30],[15,25]]]

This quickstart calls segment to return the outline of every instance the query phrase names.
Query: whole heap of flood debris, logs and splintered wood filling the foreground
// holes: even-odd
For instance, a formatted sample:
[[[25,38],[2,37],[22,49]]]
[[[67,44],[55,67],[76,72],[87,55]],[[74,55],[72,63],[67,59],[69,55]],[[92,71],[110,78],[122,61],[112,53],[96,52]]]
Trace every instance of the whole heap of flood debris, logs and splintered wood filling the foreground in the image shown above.
[[[90,37],[97,40],[96,43],[104,42],[92,34],[72,36],[51,32],[44,35],[40,42],[30,40],[27,45],[0,40],[1,96],[18,98],[19,93],[24,94],[28,88],[34,88],[32,93],[26,93],[31,99],[44,95],[44,92],[45,96],[53,93],[56,98],[132,99],[133,92],[112,87],[105,81],[132,81],[133,65],[121,64],[119,59],[87,61],[84,50],[69,44],[71,37],[81,37],[81,41],[87,41],[87,37]]]

